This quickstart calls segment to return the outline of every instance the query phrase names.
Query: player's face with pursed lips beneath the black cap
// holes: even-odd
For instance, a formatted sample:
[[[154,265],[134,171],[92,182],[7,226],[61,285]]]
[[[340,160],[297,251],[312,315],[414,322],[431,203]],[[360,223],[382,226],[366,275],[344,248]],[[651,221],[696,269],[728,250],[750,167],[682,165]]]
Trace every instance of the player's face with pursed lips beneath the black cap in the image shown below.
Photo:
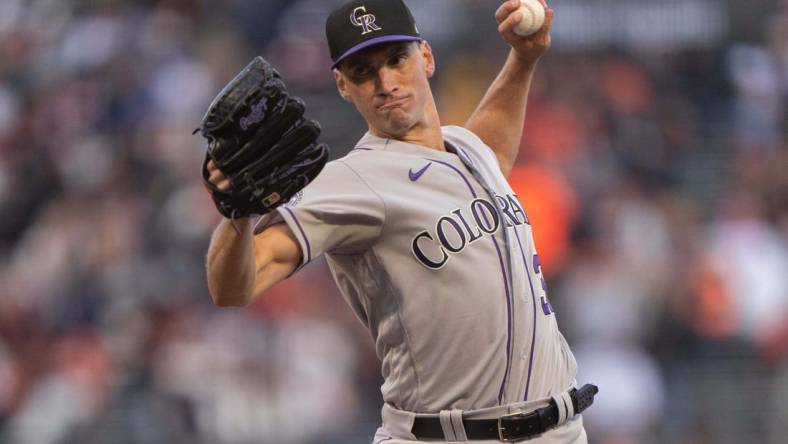
[[[402,138],[423,123],[435,72],[427,42],[374,46],[348,57],[335,72],[337,87],[373,132]]]

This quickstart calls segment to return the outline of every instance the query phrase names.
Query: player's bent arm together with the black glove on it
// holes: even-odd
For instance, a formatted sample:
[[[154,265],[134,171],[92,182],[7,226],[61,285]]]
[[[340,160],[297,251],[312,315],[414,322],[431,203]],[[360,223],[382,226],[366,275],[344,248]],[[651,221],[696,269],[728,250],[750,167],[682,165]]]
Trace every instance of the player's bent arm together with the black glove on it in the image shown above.
[[[199,131],[207,142],[201,168],[225,220],[208,251],[208,289],[219,306],[244,306],[290,275],[301,249],[284,225],[254,236],[252,219],[287,202],[322,171],[328,147],[320,126],[303,117],[279,73],[255,57],[216,96]]]

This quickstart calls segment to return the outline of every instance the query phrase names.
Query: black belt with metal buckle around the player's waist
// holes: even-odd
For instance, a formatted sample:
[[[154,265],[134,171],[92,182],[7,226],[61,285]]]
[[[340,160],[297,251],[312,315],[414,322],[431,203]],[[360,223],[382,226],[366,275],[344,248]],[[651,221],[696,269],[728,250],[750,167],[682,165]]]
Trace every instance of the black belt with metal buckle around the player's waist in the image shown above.
[[[580,390],[572,389],[572,407],[580,413],[594,403],[597,386],[586,384]],[[533,438],[558,425],[558,405],[550,400],[550,405],[528,413],[515,413],[498,419],[463,419],[465,435],[469,440],[497,439],[502,442],[515,442]],[[443,434],[440,418],[416,417],[411,433],[417,439],[447,439]]]

